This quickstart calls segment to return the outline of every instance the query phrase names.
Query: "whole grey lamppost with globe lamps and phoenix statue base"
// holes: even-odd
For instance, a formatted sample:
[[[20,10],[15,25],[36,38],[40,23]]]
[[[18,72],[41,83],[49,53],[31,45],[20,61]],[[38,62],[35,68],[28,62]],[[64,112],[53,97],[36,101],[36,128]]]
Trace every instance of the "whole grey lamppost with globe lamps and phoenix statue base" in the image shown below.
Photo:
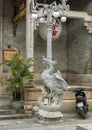
[[[40,13],[41,10],[41,13]],[[38,4],[32,10],[31,18],[47,25],[47,56],[43,57],[46,63],[46,69],[42,72],[42,95],[38,99],[38,107],[35,107],[36,113],[45,119],[60,119],[62,113],[60,108],[62,105],[63,91],[67,89],[68,84],[62,78],[60,71],[54,73],[55,61],[52,61],[52,25],[53,18],[61,18],[61,22],[66,22],[66,16],[63,9],[62,13],[58,12],[56,2],[52,4]]]

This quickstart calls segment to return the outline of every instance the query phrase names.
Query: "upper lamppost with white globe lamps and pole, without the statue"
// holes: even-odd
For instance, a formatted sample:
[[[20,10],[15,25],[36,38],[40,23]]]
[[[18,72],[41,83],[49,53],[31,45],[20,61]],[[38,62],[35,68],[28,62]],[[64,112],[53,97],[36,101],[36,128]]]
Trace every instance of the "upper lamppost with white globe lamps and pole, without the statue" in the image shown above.
[[[42,9],[42,14],[38,14],[37,16],[37,9]],[[61,22],[66,22],[66,16],[62,9],[62,14],[58,12],[58,6],[56,2],[52,4],[39,4],[36,3],[34,10],[32,10],[31,18],[36,20],[39,19],[39,22],[47,24],[47,58],[52,59],[52,24],[53,24],[53,17],[58,18],[61,17]],[[45,20],[46,19],[46,20]]]

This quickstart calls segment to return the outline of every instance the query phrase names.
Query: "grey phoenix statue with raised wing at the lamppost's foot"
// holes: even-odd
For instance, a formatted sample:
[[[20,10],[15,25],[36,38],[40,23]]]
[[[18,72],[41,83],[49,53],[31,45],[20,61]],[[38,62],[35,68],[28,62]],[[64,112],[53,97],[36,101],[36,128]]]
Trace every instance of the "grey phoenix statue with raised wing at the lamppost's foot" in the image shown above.
[[[58,111],[62,105],[63,91],[68,88],[68,84],[62,78],[60,71],[54,73],[55,61],[43,58],[47,69],[42,73],[44,86],[42,96],[38,99],[39,107],[46,111]]]

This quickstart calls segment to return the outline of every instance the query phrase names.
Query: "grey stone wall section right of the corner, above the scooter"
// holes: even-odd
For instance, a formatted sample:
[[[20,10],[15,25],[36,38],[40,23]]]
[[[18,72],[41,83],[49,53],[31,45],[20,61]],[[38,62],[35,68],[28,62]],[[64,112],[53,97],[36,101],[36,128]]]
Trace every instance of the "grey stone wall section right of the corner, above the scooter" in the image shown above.
[[[92,15],[92,1],[82,1],[84,3],[75,2],[78,10]],[[88,33],[83,20],[69,19],[68,21],[67,53],[67,80],[92,84],[92,34]]]

